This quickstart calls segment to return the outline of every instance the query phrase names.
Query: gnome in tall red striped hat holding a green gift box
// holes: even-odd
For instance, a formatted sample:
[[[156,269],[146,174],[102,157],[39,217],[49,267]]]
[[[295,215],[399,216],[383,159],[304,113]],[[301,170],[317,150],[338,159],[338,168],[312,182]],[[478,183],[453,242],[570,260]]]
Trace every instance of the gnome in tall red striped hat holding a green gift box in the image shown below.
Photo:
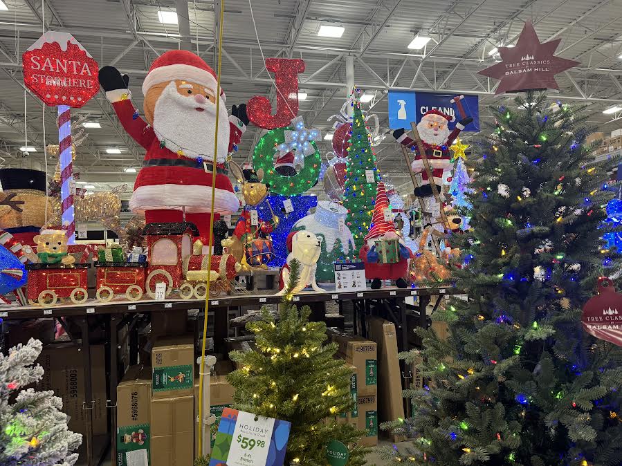
[[[365,277],[372,280],[373,290],[380,288],[383,280],[395,280],[398,288],[408,286],[404,277],[412,252],[395,231],[393,222],[385,220],[385,209],[389,209],[389,198],[385,184],[378,183],[372,227],[358,253],[365,262]]]

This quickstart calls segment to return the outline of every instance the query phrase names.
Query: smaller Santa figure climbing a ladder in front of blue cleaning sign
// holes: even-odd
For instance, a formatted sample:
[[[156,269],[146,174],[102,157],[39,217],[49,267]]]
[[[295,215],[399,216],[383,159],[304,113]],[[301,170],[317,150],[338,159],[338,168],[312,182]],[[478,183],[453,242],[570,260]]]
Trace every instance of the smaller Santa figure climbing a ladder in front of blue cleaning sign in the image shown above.
[[[430,162],[432,177],[437,187],[443,184],[443,179],[447,176],[446,172],[450,171],[452,168],[451,155],[449,152],[450,145],[453,144],[464,127],[473,121],[473,118],[468,117],[460,120],[456,123],[454,130],[450,131],[448,123],[454,121],[455,117],[445,115],[436,109],[432,109],[427,111],[417,124],[417,131],[419,131],[419,136],[423,141],[423,147],[426,149],[426,158],[428,158]],[[415,196],[432,196],[432,187],[428,179],[428,172],[423,165],[423,160],[421,160],[417,142],[406,136],[403,129],[396,129],[393,131],[393,137],[397,142],[405,145],[416,153],[411,168],[415,174],[421,173],[423,183],[414,190]]]

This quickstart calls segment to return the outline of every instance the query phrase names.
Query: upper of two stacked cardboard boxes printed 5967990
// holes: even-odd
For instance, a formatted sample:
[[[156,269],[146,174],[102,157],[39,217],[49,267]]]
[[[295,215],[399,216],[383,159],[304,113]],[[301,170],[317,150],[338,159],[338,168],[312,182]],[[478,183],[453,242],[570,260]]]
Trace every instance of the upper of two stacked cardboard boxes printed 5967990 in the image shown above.
[[[378,391],[378,355],[376,342],[345,333],[333,335],[338,355],[356,367],[358,395],[375,395]]]

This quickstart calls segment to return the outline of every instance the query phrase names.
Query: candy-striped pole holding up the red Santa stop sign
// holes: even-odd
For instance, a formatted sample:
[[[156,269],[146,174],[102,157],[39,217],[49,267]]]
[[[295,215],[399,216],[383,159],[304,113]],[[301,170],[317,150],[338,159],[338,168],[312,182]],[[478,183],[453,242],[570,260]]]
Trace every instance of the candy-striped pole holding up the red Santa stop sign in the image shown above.
[[[73,158],[71,157],[71,109],[58,106],[58,143],[60,154],[61,223],[67,243],[75,244],[75,214],[73,211]]]

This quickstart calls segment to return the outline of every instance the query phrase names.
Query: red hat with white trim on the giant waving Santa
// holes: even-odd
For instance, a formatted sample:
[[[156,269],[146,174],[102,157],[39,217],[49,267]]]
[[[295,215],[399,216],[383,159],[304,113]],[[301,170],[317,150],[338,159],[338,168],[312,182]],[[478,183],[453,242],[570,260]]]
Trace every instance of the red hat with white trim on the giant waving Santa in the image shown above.
[[[147,95],[149,88],[162,82],[187,80],[202,84],[216,91],[217,76],[214,70],[205,61],[188,50],[168,50],[154,60],[143,82],[143,95]],[[223,102],[225,93],[220,88]]]

